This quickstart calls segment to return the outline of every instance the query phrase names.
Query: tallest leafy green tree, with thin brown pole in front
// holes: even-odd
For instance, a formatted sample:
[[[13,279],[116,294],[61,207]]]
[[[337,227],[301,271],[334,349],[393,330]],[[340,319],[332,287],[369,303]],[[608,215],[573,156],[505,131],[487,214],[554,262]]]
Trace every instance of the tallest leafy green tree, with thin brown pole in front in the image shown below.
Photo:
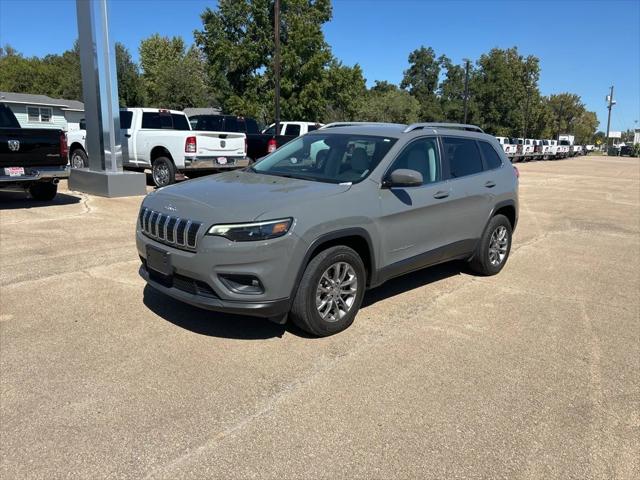
[[[324,39],[330,0],[282,0],[280,13],[281,117],[321,121],[353,116],[364,95],[364,79],[359,66],[335,60]],[[202,21],[196,43],[223,109],[272,120],[274,1],[221,0],[216,10],[204,11]]]

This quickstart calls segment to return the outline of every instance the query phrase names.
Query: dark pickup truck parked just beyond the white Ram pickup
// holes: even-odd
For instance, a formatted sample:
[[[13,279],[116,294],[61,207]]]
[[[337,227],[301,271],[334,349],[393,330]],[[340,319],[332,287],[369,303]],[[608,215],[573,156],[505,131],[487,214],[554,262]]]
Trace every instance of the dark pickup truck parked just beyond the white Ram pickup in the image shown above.
[[[189,122],[193,130],[244,133],[247,136],[247,157],[252,160],[264,157],[297,136],[274,135],[273,128],[260,133],[258,123],[253,118],[235,115],[191,115]]]

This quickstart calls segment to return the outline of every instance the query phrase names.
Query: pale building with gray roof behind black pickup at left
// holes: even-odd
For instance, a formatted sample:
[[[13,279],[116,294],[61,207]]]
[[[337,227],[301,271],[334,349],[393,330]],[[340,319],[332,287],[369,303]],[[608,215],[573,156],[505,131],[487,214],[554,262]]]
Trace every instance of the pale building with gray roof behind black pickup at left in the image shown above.
[[[46,95],[0,92],[0,103],[11,109],[20,126],[78,130],[84,118],[84,103]]]

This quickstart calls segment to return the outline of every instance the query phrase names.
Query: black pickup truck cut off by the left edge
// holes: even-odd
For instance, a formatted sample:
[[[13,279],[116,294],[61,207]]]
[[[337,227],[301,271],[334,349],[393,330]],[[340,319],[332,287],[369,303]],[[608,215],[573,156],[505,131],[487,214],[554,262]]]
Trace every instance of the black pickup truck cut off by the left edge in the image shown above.
[[[67,153],[62,130],[21,128],[11,109],[0,103],[0,190],[52,200],[60,179],[69,176]]]

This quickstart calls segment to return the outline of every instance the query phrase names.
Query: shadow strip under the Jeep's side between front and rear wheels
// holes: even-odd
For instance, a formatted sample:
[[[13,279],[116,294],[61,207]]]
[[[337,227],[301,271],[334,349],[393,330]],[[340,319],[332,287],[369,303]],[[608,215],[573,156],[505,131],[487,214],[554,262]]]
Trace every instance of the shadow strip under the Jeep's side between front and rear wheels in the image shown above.
[[[400,293],[424,287],[430,283],[453,277],[454,275],[461,275],[466,272],[467,264],[465,262],[452,261],[396,277],[377,288],[369,290],[364,296],[362,307],[368,307]]]

